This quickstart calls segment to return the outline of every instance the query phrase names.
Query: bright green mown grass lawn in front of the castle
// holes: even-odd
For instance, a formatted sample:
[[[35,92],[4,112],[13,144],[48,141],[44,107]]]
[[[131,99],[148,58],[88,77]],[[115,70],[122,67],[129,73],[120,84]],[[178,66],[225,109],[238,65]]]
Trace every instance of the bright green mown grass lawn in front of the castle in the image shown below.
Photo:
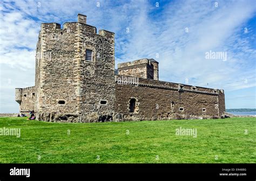
[[[2,117],[3,127],[21,128],[21,137],[0,136],[0,163],[256,163],[255,118],[51,123]],[[197,137],[177,136],[179,127],[196,128]]]

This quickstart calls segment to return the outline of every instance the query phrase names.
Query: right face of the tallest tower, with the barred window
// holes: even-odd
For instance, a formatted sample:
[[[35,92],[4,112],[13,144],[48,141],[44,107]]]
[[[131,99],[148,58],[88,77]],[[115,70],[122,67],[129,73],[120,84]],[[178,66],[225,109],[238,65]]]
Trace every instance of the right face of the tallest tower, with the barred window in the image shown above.
[[[80,47],[80,112],[82,122],[112,121],[115,101],[114,33],[87,31],[82,24]],[[84,60],[86,49],[92,50],[92,61]]]

